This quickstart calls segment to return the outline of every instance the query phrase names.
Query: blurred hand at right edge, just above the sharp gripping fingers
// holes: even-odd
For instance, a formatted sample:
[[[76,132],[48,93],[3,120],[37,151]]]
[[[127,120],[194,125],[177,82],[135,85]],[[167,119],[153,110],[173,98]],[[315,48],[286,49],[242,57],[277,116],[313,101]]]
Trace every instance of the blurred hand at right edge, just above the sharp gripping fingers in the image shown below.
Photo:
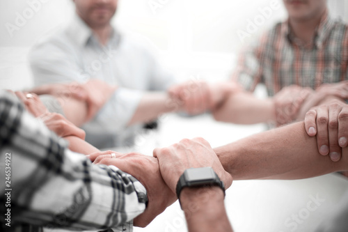
[[[312,108],[320,105],[320,102],[324,101],[326,98],[335,97],[340,99],[348,99],[348,81],[334,83],[334,84],[322,84],[313,95],[310,96],[303,103],[298,120],[303,120],[306,113]]]

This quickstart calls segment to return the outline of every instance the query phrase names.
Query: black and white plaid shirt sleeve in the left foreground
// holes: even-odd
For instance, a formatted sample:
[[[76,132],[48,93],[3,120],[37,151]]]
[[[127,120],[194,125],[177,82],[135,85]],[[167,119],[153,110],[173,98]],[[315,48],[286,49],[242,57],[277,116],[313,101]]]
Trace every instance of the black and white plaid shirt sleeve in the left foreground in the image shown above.
[[[132,231],[132,219],[145,210],[148,198],[138,180],[68,150],[66,141],[4,91],[0,91],[0,159],[3,229]],[[8,209],[11,227],[6,226]]]

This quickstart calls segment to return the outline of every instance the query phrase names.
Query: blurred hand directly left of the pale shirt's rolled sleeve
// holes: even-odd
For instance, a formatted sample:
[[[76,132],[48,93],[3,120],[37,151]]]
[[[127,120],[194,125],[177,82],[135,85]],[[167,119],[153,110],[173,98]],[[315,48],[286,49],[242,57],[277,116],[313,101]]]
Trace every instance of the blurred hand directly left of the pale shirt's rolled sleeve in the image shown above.
[[[88,105],[88,114],[86,121],[90,121],[97,114],[97,111],[109,101],[111,95],[116,91],[117,86],[110,86],[100,79],[90,79],[83,85],[83,88],[87,93],[86,103]]]

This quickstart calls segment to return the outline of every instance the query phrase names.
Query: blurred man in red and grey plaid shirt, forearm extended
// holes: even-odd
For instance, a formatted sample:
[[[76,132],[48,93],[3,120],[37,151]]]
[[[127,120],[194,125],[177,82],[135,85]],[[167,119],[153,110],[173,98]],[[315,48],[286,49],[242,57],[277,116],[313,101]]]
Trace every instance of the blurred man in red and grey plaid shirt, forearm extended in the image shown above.
[[[240,91],[230,91],[213,109],[216,120],[279,126],[303,120],[328,95],[348,98],[348,26],[330,17],[326,0],[283,3],[287,20],[239,56],[232,81],[239,84]],[[266,100],[252,94],[258,84],[266,86]],[[183,88],[179,84],[171,91],[180,95]],[[319,145],[322,155],[340,150],[335,141]]]

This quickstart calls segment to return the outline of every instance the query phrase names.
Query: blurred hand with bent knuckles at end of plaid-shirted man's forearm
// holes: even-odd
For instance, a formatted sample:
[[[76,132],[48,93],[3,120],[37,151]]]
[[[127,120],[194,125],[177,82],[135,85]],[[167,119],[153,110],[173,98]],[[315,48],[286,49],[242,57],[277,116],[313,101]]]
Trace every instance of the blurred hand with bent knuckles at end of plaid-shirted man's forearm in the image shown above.
[[[297,118],[299,110],[308,95],[313,93],[310,88],[287,86],[274,95],[274,109],[276,110],[276,125],[291,123]]]

